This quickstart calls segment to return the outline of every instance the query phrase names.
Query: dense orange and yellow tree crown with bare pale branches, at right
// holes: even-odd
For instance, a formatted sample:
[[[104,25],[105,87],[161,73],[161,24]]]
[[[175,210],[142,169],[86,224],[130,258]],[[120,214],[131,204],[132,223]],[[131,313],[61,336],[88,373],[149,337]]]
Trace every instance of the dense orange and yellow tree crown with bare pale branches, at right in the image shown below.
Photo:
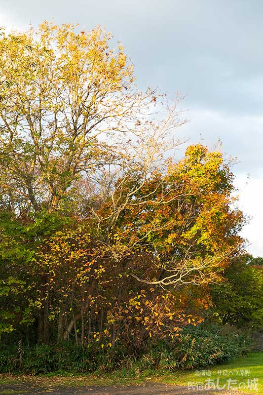
[[[129,267],[133,254],[148,260],[145,273],[143,266],[140,276],[130,273],[144,283],[215,281],[242,246],[243,215],[233,208],[233,174],[220,152],[200,144],[165,166],[148,179],[140,172],[125,174],[107,191],[96,211],[100,238],[111,256],[125,260],[127,254]]]

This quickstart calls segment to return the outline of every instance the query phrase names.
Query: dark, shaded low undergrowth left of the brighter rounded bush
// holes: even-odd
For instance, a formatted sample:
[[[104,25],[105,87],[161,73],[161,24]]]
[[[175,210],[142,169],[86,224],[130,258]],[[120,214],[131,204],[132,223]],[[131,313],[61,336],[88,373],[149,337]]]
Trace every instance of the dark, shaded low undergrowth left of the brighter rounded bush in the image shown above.
[[[17,347],[2,348],[0,373],[23,371],[38,375],[55,371],[112,371],[125,366],[125,360],[135,359],[129,356],[121,345],[106,352],[99,349],[98,343],[89,348],[66,343],[60,346],[36,345],[31,349],[25,348],[22,358]]]

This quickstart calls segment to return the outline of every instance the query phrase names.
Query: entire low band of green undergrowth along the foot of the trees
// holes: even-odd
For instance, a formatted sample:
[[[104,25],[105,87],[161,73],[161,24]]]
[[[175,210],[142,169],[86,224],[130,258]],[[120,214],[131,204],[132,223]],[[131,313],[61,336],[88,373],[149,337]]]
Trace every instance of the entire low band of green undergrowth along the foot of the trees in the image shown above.
[[[192,369],[228,362],[246,353],[250,339],[242,332],[202,326],[188,326],[175,339],[145,345],[138,356],[130,355],[121,344],[100,349],[98,343],[89,347],[62,344],[37,345],[0,350],[0,372],[23,371],[41,374],[55,371],[94,372],[116,369]]]

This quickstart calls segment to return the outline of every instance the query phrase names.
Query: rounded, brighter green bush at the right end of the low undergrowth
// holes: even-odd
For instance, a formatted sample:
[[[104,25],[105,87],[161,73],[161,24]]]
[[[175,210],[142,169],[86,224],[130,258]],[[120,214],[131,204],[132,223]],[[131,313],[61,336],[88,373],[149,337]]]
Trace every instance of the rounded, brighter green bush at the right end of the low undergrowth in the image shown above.
[[[241,331],[188,325],[175,341],[163,341],[150,348],[142,357],[142,365],[166,370],[214,365],[246,353],[251,344],[250,337]]]

